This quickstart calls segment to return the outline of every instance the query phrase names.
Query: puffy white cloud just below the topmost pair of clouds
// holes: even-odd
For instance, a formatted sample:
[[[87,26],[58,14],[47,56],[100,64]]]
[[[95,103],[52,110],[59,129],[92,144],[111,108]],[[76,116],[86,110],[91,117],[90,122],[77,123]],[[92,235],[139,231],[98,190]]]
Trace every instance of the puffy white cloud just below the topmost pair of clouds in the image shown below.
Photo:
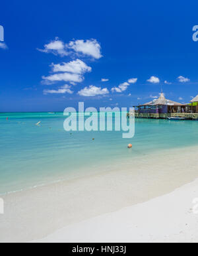
[[[70,72],[75,74],[84,74],[91,72],[92,68],[87,66],[82,60],[73,60],[71,62],[63,62],[61,64],[51,64],[53,72]]]

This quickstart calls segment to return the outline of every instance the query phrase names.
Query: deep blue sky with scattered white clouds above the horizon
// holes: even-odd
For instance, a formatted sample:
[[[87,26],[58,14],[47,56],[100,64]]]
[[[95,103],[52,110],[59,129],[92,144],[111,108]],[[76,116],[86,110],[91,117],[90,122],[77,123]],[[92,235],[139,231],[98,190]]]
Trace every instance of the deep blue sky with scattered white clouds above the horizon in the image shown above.
[[[161,88],[189,102],[198,94],[197,9],[195,0],[3,1],[0,111],[129,107]]]

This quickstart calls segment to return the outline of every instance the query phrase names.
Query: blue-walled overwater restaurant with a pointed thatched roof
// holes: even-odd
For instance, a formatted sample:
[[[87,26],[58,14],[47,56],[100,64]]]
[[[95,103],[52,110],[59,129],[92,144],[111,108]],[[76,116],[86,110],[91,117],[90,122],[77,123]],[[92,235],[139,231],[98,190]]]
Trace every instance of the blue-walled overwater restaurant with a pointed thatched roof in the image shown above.
[[[166,99],[161,93],[158,99],[154,99],[148,103],[138,106],[138,113],[190,113],[191,107],[170,99]]]

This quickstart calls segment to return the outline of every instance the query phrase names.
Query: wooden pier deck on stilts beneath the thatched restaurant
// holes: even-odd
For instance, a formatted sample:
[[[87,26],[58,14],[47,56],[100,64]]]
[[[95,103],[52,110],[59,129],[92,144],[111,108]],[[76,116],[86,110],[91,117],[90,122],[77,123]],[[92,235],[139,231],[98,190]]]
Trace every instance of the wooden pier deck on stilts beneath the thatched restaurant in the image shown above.
[[[129,117],[129,113],[127,114]],[[135,113],[136,118],[154,118],[168,119],[168,117],[185,117],[187,120],[198,119],[198,113],[168,113],[168,114],[153,114],[153,113]]]

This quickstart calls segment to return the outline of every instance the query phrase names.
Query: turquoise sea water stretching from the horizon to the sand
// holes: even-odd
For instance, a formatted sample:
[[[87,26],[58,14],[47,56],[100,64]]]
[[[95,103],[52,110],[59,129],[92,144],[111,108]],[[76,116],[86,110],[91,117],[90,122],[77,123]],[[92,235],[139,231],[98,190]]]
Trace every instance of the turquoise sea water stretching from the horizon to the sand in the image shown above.
[[[136,119],[135,137],[123,139],[122,131],[66,132],[64,120],[63,113],[0,113],[0,194],[105,172],[164,149],[198,145],[197,121]],[[127,149],[128,143],[133,149]]]

